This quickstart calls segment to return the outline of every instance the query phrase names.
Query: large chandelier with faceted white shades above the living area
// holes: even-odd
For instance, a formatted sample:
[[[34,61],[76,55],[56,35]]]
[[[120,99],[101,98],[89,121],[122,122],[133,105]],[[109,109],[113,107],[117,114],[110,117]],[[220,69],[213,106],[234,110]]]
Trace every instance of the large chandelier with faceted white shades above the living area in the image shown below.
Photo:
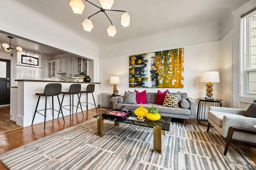
[[[89,2],[88,0],[85,0],[85,1]],[[89,3],[100,9],[95,14],[98,14],[99,12],[104,12],[106,17],[110,21],[111,25],[107,29],[107,32],[108,32],[109,36],[114,37],[117,31],[116,31],[116,27],[113,26],[110,18],[108,17],[108,15],[106,14],[105,11],[124,12],[121,15],[121,25],[124,26],[124,27],[127,27],[127,26],[130,25],[130,15],[126,11],[111,10],[112,5],[114,4],[114,0],[99,0],[99,1],[100,1],[100,4],[101,4],[102,7],[99,7],[99,6],[95,5],[95,4],[93,4],[92,2],[89,2]],[[76,14],[82,14],[82,12],[84,11],[84,7],[85,6],[84,6],[84,3],[82,2],[82,0],[70,0],[69,5],[72,8],[73,12],[76,13]],[[92,28],[94,27],[93,24],[92,24],[92,20],[89,20],[89,18],[94,16],[95,14],[92,14],[91,16],[89,16],[87,19],[85,19],[82,22],[82,26],[83,26],[85,31],[90,32],[92,30]]]

